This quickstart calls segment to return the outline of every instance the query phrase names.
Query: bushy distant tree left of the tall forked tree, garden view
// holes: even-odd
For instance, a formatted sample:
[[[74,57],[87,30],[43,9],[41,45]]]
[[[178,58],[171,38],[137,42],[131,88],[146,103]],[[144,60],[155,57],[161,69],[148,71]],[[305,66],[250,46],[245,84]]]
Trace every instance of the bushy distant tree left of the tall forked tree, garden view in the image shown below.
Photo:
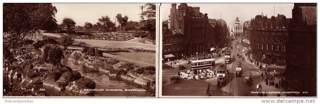
[[[101,24],[101,30],[107,30],[107,31],[115,31],[116,30],[116,24],[113,23],[109,16],[102,16],[101,18],[98,19]],[[99,26],[99,24],[97,25]]]

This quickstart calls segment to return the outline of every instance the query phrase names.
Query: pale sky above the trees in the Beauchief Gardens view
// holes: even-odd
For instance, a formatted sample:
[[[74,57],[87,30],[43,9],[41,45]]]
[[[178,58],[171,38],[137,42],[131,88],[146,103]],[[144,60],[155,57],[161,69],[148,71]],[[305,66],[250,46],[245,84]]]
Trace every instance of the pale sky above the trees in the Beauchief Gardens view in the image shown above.
[[[69,17],[76,22],[76,26],[84,26],[85,22],[95,24],[101,16],[108,15],[110,20],[115,21],[118,13],[122,14],[122,17],[127,15],[128,21],[139,21],[141,9],[139,6],[144,3],[127,3],[127,4],[96,4],[96,3],[53,3],[58,10],[55,19],[58,24],[61,24],[63,18]],[[145,11],[145,10],[143,10]],[[116,22],[118,26],[118,22]]]

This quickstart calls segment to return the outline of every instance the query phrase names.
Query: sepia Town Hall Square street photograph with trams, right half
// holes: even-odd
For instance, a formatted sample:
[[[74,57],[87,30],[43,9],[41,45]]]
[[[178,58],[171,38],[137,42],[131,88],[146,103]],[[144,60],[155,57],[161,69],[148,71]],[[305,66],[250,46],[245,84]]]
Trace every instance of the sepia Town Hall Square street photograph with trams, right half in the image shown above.
[[[316,97],[316,3],[163,3],[160,15],[160,97]]]

